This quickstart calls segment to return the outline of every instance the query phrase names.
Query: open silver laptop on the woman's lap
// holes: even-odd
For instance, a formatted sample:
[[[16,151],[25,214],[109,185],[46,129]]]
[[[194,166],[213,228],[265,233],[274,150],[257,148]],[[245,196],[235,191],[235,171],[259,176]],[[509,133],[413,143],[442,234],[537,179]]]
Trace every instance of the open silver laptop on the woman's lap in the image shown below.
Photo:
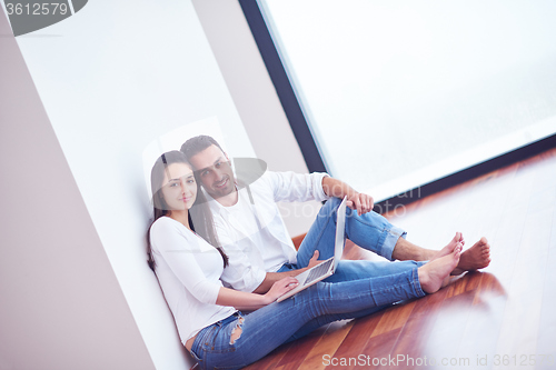
[[[341,259],[341,254],[344,253],[344,243],[346,241],[345,240],[346,202],[347,202],[347,197],[344,197],[344,200],[341,201],[340,207],[338,207],[338,211],[336,213],[337,214],[336,240],[334,246],[334,257],[296,276],[297,281],[299,281],[299,286],[291,289],[287,293],[280,296],[277,299],[277,302],[281,302],[282,300],[290,298],[291,296],[300,292],[301,290],[309,288],[310,286],[317,283],[318,281],[334,274]]]

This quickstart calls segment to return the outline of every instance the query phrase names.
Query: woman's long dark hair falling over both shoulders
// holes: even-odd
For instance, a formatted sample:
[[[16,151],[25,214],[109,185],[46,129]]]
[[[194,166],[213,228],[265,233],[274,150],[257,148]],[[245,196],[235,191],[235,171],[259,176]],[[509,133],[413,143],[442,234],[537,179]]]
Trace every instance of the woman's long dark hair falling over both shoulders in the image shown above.
[[[152,166],[152,170],[150,172],[150,188],[152,191],[152,207],[155,211],[155,218],[152,219],[152,222],[149,226],[149,230],[147,231],[147,262],[149,263],[149,267],[152,271],[155,271],[156,263],[155,259],[152,258],[152,249],[150,244],[150,229],[156,220],[158,220],[162,216],[167,216],[170,213],[169,207],[162,196],[161,188],[167,168],[172,163],[186,163],[188,166],[191,166],[189,164],[186,154],[180,151],[172,150],[160,156],[155,162],[155,166]],[[189,227],[191,228],[191,230],[197,232],[201,238],[212,244],[222,256],[224,267],[228,266],[228,256],[226,256],[218,241],[218,237],[215,230],[215,223],[212,221],[212,213],[210,212],[207,199],[200,189],[199,182],[197,182],[197,199],[195,200],[193,206],[188,212],[188,218]]]

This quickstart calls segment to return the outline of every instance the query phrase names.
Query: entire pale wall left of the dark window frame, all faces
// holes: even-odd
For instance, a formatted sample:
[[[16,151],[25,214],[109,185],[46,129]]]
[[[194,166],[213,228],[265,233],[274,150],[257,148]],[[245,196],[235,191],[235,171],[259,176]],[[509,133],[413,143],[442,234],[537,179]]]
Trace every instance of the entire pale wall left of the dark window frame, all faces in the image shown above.
[[[156,138],[216,120],[231,157],[307,171],[238,3],[200,4],[91,1],[18,39],[0,14],[1,370],[192,364],[145,261]]]

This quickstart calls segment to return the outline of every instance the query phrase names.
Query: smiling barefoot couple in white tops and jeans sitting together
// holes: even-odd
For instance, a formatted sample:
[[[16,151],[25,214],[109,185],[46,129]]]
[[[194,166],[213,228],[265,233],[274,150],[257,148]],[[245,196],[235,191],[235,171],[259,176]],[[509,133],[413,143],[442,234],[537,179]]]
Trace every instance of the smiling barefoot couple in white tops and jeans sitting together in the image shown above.
[[[239,369],[322,324],[434,293],[450,273],[490,261],[484,238],[466,251],[459,232],[439,251],[406,241],[403,230],[370,211],[373,198],[324,173],[267,171],[238,186],[226,153],[206,136],[162,154],[151,189],[149,264],[202,369]],[[297,286],[296,274],[332,256],[344,197],[346,236],[399,261],[342,260],[324,282],[276,302]],[[296,252],[275,202],[307,200],[327,202]]]

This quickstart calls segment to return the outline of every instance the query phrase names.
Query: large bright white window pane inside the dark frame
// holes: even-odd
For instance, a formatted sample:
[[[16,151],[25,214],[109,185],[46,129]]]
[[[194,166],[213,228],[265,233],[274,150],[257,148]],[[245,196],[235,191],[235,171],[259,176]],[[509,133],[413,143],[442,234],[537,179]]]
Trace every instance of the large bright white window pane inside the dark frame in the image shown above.
[[[377,200],[556,132],[552,0],[258,0],[327,170]]]

